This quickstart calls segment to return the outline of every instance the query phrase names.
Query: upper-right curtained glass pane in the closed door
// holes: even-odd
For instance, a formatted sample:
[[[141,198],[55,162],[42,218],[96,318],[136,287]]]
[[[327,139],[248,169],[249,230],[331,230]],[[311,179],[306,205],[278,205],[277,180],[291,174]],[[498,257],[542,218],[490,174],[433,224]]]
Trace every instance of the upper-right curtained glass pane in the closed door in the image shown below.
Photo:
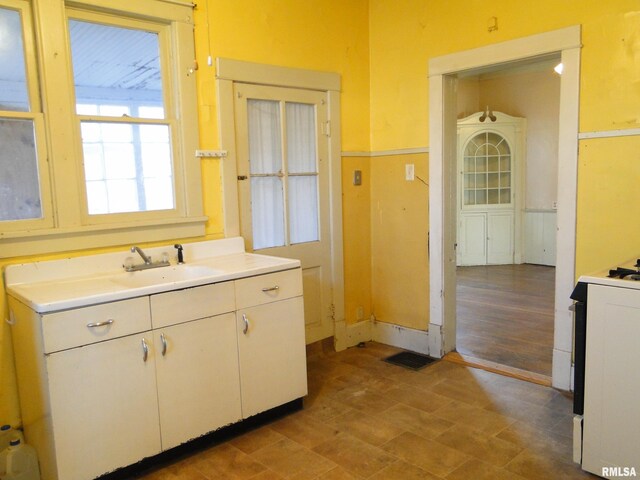
[[[289,173],[315,173],[315,107],[304,103],[287,103],[286,112]]]

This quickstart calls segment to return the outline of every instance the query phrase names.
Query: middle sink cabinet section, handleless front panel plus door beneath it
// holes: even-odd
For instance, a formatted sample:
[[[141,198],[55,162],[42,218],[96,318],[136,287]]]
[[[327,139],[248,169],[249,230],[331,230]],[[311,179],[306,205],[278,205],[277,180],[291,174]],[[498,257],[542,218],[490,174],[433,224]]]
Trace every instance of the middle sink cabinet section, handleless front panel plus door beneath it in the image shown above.
[[[241,419],[234,310],[233,282],[151,296],[163,450]]]

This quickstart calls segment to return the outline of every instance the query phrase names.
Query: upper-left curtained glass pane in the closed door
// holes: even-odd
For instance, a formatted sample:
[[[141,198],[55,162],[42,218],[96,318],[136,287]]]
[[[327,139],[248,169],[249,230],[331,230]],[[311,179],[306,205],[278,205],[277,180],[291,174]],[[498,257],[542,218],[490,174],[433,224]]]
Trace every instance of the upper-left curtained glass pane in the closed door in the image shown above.
[[[247,116],[251,173],[278,173],[282,170],[280,103],[249,99]]]

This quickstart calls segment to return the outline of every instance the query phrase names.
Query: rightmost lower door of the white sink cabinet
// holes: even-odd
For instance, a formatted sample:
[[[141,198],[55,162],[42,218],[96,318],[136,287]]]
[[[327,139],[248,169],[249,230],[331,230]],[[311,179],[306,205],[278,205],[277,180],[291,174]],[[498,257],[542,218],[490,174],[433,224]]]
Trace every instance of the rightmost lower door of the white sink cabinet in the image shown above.
[[[307,394],[302,297],[237,313],[244,418]]]

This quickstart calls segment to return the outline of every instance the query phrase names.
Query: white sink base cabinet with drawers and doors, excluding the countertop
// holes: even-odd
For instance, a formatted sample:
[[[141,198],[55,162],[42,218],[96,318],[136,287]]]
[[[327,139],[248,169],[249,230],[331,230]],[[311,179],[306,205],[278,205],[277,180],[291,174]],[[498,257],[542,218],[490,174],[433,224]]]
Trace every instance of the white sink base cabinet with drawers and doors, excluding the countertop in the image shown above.
[[[307,393],[299,268],[40,314],[9,297],[43,480],[85,480]]]

